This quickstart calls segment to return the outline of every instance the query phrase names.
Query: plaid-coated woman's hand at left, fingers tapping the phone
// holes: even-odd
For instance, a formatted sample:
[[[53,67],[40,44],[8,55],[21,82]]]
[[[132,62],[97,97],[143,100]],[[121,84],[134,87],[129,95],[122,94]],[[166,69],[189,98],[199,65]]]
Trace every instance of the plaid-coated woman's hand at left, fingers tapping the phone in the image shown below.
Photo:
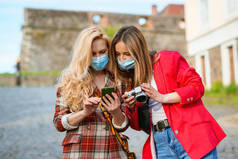
[[[88,98],[88,100],[84,103],[83,110],[82,110],[83,113],[86,116],[88,116],[88,115],[92,114],[93,112],[95,112],[100,101],[101,101],[101,99],[98,97]]]

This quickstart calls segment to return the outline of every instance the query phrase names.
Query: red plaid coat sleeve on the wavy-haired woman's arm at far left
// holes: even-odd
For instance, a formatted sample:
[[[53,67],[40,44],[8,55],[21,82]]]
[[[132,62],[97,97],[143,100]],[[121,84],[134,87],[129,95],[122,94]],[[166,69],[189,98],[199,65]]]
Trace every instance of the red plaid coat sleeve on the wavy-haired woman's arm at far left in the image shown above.
[[[57,89],[57,99],[55,103],[55,113],[53,118],[53,123],[55,128],[58,131],[65,131],[66,129],[62,125],[62,117],[66,114],[69,114],[69,108],[66,106],[66,104],[63,102],[62,97],[60,95],[60,89]]]

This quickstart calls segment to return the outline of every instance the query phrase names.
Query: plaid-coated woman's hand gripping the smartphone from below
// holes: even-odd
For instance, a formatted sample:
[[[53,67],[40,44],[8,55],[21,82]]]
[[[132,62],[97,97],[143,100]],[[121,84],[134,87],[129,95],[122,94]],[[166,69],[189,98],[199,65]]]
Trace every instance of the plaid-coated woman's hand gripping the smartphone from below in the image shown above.
[[[106,97],[103,97],[103,100],[101,100],[102,105],[107,109],[109,113],[111,113],[113,116],[117,115],[118,113],[121,113],[121,102],[119,97],[116,93],[112,93],[113,98],[106,94]]]

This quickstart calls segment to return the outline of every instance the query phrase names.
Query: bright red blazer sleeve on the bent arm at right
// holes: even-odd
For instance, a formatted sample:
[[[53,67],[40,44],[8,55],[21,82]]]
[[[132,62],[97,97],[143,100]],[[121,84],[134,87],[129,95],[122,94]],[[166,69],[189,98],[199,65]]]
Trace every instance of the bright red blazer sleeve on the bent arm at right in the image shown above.
[[[181,105],[196,102],[204,95],[202,79],[194,68],[190,67],[187,61],[178,52],[175,52],[177,64],[178,88],[174,89],[180,98]]]

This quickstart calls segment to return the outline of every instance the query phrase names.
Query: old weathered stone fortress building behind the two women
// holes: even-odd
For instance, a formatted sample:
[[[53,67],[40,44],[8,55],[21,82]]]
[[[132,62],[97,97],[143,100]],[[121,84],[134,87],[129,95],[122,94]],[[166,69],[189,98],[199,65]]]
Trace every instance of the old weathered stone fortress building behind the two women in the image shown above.
[[[69,64],[76,36],[89,25],[103,28],[134,25],[142,30],[150,50],[177,50],[187,57],[183,6],[178,5],[178,10],[182,14],[180,11],[178,15],[170,15],[166,9],[158,13],[155,5],[152,15],[26,8],[21,72],[35,72],[35,75],[23,76],[22,85],[55,84],[54,72],[62,71]]]

